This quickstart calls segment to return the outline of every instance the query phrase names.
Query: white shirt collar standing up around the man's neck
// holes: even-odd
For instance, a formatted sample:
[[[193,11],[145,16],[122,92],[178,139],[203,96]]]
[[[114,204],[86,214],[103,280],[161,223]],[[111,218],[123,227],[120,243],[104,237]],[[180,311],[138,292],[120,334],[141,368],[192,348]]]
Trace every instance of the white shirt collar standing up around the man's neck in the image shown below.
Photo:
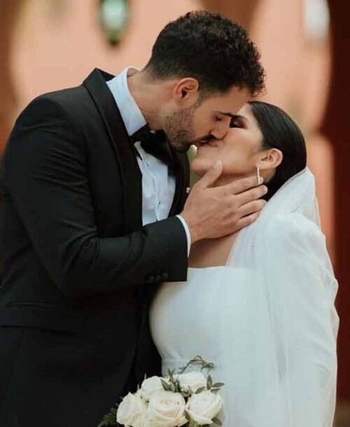
[[[127,85],[127,76],[131,70],[139,71],[139,69],[129,66],[127,69],[118,74],[118,76],[113,77],[107,82],[107,85],[112,92],[113,98],[118,105],[120,116],[123,118],[123,122],[129,136],[146,125],[146,120],[141,113],[139,106],[137,106],[137,103],[132,97],[129,86]]]

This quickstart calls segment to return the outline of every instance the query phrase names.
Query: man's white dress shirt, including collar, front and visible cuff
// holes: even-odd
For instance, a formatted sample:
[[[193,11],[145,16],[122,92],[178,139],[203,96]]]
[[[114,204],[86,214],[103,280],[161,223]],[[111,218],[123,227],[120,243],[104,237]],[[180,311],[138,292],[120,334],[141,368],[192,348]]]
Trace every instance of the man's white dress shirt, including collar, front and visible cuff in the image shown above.
[[[132,67],[125,69],[118,76],[107,82],[129,136],[146,125],[146,120],[127,85],[127,76],[132,69]],[[169,171],[165,163],[146,153],[140,142],[134,145],[140,155],[140,157],[137,157],[137,162],[142,174],[142,222],[146,225],[169,216],[175,195],[176,177]],[[190,253],[190,230],[186,221],[180,215],[177,218],[185,228],[188,253]]]

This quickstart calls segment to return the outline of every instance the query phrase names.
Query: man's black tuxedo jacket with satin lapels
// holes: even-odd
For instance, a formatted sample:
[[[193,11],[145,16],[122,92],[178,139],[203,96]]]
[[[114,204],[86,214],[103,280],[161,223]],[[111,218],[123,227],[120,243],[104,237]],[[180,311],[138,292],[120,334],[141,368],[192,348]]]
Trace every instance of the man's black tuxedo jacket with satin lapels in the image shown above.
[[[172,151],[170,218],[142,226],[141,172],[106,85],[34,99],[15,123],[0,186],[0,426],[96,427],[160,373],[148,327],[158,283],[184,281],[178,218],[189,169]]]

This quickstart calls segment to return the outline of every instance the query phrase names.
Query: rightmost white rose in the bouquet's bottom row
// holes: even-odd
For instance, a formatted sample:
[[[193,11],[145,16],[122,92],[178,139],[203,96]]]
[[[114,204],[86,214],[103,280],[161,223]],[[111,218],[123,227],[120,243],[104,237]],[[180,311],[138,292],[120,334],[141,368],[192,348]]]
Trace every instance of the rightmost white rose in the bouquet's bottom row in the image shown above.
[[[197,421],[200,426],[213,423],[223,407],[223,398],[218,393],[202,391],[202,393],[192,395],[187,402],[186,412]]]

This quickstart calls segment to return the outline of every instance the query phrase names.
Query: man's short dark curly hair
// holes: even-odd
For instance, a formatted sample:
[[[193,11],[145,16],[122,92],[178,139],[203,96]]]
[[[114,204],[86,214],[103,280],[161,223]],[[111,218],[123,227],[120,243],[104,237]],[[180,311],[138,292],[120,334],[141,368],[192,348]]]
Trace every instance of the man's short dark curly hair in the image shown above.
[[[146,70],[154,80],[196,78],[202,94],[237,86],[255,95],[265,82],[260,54],[246,30],[202,10],[186,13],[162,29]]]

